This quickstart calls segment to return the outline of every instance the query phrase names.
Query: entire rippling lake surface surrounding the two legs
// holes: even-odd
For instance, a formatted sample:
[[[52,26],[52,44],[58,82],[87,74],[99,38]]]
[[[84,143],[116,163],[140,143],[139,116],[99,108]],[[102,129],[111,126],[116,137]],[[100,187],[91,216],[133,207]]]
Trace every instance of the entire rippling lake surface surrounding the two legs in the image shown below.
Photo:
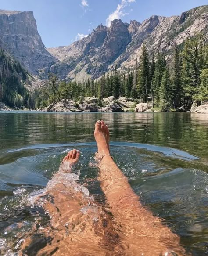
[[[0,255],[18,252],[25,234],[47,225],[30,193],[44,189],[70,149],[81,151],[73,170],[80,186],[104,204],[93,159],[98,119],[108,123],[111,154],[141,202],[187,252],[208,255],[208,115],[32,112],[0,112]]]

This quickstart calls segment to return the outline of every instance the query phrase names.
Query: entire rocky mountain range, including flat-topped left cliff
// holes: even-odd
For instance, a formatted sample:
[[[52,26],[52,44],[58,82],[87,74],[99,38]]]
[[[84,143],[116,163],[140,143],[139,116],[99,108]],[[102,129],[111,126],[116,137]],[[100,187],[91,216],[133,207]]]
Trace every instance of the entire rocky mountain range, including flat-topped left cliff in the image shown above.
[[[59,79],[96,79],[115,64],[128,72],[140,60],[145,40],[151,55],[158,50],[171,58],[175,45],[203,33],[208,42],[208,5],[180,16],[152,16],[142,22],[114,20],[69,46],[46,49],[32,11],[0,10],[0,48],[6,49],[32,74],[45,79],[53,72]]]

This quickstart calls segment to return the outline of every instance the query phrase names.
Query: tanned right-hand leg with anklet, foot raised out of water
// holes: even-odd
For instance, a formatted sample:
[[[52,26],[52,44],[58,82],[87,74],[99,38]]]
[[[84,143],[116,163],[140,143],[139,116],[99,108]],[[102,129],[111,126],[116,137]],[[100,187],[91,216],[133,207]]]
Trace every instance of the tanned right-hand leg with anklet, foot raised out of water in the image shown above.
[[[169,256],[173,250],[183,255],[184,250],[179,245],[179,237],[142,206],[127,178],[111,158],[108,126],[103,121],[97,121],[95,124],[94,136],[101,158],[101,188],[115,221],[121,225],[128,255],[138,255],[139,251],[139,255]]]

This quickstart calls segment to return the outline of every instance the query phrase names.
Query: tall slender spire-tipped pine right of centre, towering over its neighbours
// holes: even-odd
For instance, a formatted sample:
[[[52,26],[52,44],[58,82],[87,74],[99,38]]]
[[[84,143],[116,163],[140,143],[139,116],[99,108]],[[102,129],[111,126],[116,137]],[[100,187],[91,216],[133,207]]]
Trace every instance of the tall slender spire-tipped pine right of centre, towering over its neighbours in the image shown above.
[[[138,95],[143,102],[147,102],[148,94],[150,91],[150,70],[149,70],[149,60],[145,42],[142,47],[142,54],[140,59],[140,68],[138,72]]]

